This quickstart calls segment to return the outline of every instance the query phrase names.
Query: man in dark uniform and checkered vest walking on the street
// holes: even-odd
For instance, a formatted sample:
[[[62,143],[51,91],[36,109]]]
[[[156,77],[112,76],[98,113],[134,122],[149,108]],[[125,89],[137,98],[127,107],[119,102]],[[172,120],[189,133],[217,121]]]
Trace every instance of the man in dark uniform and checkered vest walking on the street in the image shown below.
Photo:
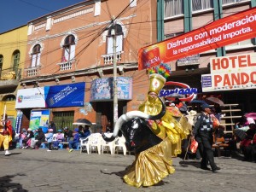
[[[213,142],[213,126],[210,113],[212,113],[210,106],[204,103],[202,106],[202,113],[196,119],[195,128],[192,133],[191,140],[195,138],[198,142],[199,151],[201,154],[201,169],[210,170],[207,167],[209,161],[212,167],[212,172],[220,170],[218,166],[214,163],[214,155],[212,152],[212,142]]]

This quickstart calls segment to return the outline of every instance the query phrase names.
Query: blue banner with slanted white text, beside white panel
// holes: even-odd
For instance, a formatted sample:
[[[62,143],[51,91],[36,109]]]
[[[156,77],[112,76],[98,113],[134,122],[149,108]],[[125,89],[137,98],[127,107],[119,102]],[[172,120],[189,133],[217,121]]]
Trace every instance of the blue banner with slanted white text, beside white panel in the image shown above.
[[[85,83],[62,84],[44,87],[46,108],[84,106]]]

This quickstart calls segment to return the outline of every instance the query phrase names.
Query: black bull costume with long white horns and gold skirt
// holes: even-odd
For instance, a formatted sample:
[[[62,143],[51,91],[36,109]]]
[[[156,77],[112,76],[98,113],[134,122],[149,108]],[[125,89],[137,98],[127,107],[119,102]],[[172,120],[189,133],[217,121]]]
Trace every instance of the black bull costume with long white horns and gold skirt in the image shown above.
[[[179,117],[173,117],[177,124],[189,127],[183,137],[179,136],[177,142],[173,142],[173,138],[160,138],[150,129],[150,120],[164,119],[166,105],[162,102],[162,110],[157,115],[149,115],[141,111],[131,111],[123,114],[117,120],[112,137],[106,137],[102,133],[105,141],[111,142],[115,137],[125,137],[126,148],[134,151],[136,160],[131,166],[125,169],[123,177],[125,183],[132,186],[140,187],[151,186],[159,183],[164,177],[175,172],[172,167],[172,157],[180,152],[175,152],[178,145],[181,145],[181,140],[185,138],[191,125],[188,120],[181,114]],[[167,135],[167,134],[166,134]]]

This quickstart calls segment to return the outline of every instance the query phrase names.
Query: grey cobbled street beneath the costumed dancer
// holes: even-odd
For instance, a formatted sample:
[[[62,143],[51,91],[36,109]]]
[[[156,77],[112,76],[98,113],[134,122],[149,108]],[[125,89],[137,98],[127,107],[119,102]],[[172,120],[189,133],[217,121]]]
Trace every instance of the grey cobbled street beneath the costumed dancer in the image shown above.
[[[157,186],[137,189],[121,178],[133,155],[47,152],[42,148],[11,152],[6,157],[0,151],[0,191],[256,191],[256,164],[224,156],[215,158],[221,167],[218,173],[199,169],[199,161],[173,158],[174,174]]]

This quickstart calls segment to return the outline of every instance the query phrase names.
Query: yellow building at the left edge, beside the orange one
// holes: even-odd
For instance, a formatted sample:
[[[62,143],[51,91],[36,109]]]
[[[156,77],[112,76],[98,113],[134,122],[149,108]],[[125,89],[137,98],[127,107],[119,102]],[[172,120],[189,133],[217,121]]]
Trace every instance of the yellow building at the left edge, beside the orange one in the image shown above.
[[[20,26],[0,34],[0,115],[6,113],[15,127],[16,91],[24,69],[27,26]]]

